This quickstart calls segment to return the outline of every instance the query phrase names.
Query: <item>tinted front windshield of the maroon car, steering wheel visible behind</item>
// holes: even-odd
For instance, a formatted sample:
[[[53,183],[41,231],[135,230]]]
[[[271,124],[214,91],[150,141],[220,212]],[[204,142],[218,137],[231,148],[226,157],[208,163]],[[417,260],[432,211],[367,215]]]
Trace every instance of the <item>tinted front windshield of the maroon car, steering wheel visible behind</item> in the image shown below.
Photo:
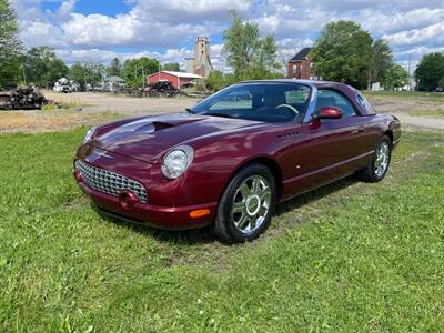
[[[310,92],[307,85],[300,83],[240,83],[204,99],[192,111],[198,114],[264,122],[302,122]]]

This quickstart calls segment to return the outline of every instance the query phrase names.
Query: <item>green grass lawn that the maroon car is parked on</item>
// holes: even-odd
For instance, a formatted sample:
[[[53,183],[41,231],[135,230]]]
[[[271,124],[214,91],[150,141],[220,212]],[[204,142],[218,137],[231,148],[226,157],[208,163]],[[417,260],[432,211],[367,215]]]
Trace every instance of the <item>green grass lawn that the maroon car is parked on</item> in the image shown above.
[[[444,138],[405,133],[379,184],[346,179],[228,246],[101,218],[71,175],[84,129],[0,135],[0,331],[440,331]]]

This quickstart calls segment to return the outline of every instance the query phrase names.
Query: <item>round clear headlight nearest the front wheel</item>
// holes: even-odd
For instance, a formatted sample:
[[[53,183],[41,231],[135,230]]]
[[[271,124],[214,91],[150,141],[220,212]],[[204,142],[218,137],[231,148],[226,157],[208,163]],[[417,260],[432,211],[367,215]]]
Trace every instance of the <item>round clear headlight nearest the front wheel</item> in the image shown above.
[[[176,179],[185,173],[194,157],[190,145],[180,145],[170,151],[162,162],[162,173],[168,179]]]

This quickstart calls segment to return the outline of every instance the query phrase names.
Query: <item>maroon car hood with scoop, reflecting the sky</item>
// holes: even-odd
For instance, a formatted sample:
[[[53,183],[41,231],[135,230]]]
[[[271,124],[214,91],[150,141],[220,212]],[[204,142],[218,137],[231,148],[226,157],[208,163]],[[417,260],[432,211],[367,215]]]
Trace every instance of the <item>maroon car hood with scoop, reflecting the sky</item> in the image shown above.
[[[92,144],[152,163],[179,144],[263,125],[263,122],[242,119],[173,113],[129,120],[105,133],[99,133]]]

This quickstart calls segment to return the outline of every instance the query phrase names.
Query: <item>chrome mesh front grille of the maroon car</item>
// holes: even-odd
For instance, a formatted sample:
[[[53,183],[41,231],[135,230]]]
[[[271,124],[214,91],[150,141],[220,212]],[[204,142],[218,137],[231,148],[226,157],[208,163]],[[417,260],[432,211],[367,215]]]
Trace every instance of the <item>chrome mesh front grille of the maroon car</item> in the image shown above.
[[[119,196],[124,190],[134,192],[140,202],[147,203],[147,191],[141,183],[119,173],[92,167],[83,161],[75,161],[82,180],[92,189],[110,195]]]

